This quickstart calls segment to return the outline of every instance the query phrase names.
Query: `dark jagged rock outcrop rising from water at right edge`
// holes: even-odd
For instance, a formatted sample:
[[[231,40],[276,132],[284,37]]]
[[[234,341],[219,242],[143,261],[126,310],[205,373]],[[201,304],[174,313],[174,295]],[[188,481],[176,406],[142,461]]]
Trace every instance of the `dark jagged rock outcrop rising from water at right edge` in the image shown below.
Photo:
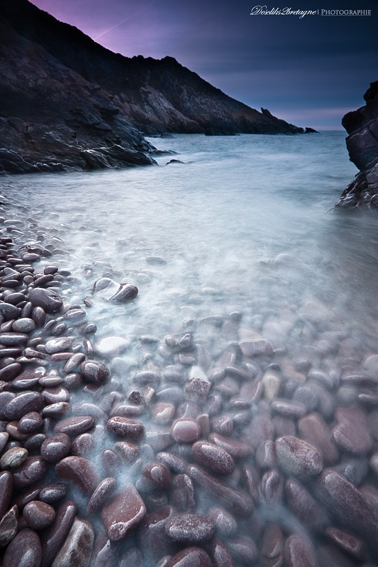
[[[337,208],[378,208],[378,81],[370,83],[364,100],[364,107],[342,119],[349,157],[360,171],[342,193]]]

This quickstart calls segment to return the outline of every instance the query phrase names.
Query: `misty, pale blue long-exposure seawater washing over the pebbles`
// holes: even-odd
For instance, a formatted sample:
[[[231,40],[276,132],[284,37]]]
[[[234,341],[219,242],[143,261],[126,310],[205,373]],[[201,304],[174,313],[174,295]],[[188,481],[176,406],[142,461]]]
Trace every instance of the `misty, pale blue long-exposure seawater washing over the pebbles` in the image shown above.
[[[342,132],[175,135],[150,141],[175,155],[161,155],[159,166],[148,168],[1,179],[1,193],[9,201],[8,218],[23,219],[7,234],[15,241],[37,239],[56,247],[56,254],[44,259],[41,267],[54,263],[70,272],[70,285],[62,291],[66,302],[91,301],[87,316],[98,326],[95,348],[106,337],[128,341],[124,350],[104,356],[115,387],[120,385],[126,396],[136,387],[137,371],[154,370],[161,377],[153,385],[159,397],[164,388],[173,386],[164,378],[166,366],[175,364],[186,380],[193,367],[194,373],[200,368],[212,384],[211,395],[221,397],[219,413],[234,422],[232,438],[253,447],[247,464],[263,476],[269,467],[256,455],[251,423],[259,415],[274,423],[274,433],[261,440],[263,445],[285,433],[299,436],[298,419],[275,413],[271,402],[274,397],[301,400],[295,392],[309,379],[309,368],[333,381],[328,390],[323,388],[331,404],[330,412],[323,414],[330,439],[335,408],[354,407],[360,392],[377,393],[375,386],[367,390],[355,383],[340,386],[348,373],[367,373],[366,358],[378,354],[376,219],[333,211],[357,173],[348,161]],[[184,163],[167,164],[170,159]],[[137,299],[125,305],[104,302],[93,295],[93,284],[102,277],[137,285]],[[196,348],[180,358],[174,349],[167,349],[165,337],[172,335],[178,341],[186,333],[191,333]],[[141,341],[143,335],[152,335],[155,342]],[[269,341],[274,354],[241,357],[238,342],[252,337]],[[247,388],[232,372],[227,374],[225,368],[230,366],[247,368],[254,383],[263,381],[269,369],[276,373],[279,388],[274,397],[269,397],[265,384],[260,397],[248,401]],[[82,395],[73,393],[76,400]],[[247,411],[241,416],[235,399],[243,397]],[[159,400],[164,401],[164,394]],[[322,414],[316,403],[310,406],[307,414]],[[199,412],[206,413],[207,408],[204,404]],[[362,411],[367,417],[370,408]],[[150,433],[154,427],[162,428],[148,416],[141,419]],[[103,427],[97,429],[98,447],[107,447],[109,436]],[[353,478],[345,475],[355,485],[375,484],[375,473],[368,466],[377,450],[373,432],[371,447],[365,454],[338,447],[340,460],[333,466],[339,471],[348,466],[353,471],[364,469]],[[176,445],[164,450],[190,460],[188,450]],[[236,473],[228,482],[244,490],[245,461],[236,458],[236,463]],[[280,469],[277,463],[270,468]],[[134,482],[135,470],[128,471],[126,467],[122,478]],[[76,498],[80,500],[78,494]],[[269,522],[278,522],[285,537],[298,532],[309,538],[315,550],[324,546],[324,534],[304,526],[285,496],[270,507],[263,496],[261,500],[254,514],[255,533],[245,520],[239,525],[241,536],[252,540],[258,553]],[[216,499],[205,494],[198,498],[195,511],[207,513],[215,504]],[[97,521],[93,520],[95,525]],[[227,538],[224,543],[227,547]],[[339,552],[344,557],[344,551]],[[117,551],[111,559],[114,567],[120,565],[122,553]],[[233,553],[236,566],[252,564]],[[265,565],[261,555],[256,561]],[[155,564],[144,558],[144,565]],[[350,564],[358,564],[357,559],[346,557],[344,565]]]

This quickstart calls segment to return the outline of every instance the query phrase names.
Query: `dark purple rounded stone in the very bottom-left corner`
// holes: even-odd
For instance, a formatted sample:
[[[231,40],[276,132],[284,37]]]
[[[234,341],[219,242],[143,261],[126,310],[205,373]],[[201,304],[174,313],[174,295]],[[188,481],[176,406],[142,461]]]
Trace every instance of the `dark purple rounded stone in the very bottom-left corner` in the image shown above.
[[[40,567],[41,540],[35,531],[23,529],[10,542],[3,556],[3,567]]]

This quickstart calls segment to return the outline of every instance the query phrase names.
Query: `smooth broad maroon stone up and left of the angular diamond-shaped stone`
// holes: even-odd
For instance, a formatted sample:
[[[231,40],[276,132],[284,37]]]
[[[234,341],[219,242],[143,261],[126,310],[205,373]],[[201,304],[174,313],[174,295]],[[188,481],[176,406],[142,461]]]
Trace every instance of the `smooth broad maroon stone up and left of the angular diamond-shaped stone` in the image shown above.
[[[84,494],[91,494],[96,489],[99,478],[96,465],[84,457],[68,456],[55,466],[59,478],[73,482]]]

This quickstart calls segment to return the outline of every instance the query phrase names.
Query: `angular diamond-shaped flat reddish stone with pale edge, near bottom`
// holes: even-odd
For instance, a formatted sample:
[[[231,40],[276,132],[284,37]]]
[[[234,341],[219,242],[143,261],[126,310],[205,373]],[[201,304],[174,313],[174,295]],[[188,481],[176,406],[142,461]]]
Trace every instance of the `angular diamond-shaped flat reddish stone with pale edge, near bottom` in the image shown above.
[[[114,496],[102,509],[102,522],[109,540],[117,542],[142,522],[146,506],[135,487],[130,483]]]

